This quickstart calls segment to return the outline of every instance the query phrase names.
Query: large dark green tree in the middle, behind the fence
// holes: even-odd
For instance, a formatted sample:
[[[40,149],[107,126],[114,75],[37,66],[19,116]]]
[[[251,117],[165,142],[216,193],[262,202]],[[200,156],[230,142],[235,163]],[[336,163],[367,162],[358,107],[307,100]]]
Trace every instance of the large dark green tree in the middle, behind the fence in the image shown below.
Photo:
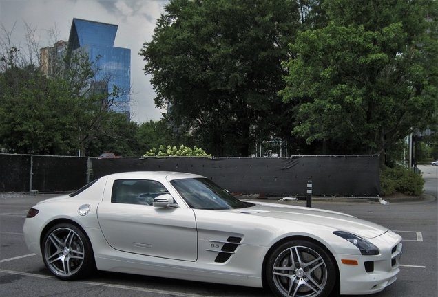
[[[273,115],[284,111],[281,63],[300,21],[289,0],[170,1],[140,51],[156,106],[213,155],[248,156],[256,142],[289,137]]]

